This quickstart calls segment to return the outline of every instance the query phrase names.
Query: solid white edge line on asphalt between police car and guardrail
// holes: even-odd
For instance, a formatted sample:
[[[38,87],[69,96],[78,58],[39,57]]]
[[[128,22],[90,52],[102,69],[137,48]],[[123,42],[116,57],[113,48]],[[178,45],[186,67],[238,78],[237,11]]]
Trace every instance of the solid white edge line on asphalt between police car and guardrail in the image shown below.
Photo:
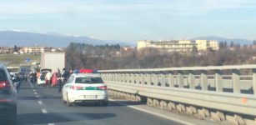
[[[111,98],[108,98],[108,100],[115,102],[115,100],[114,100],[114,99],[111,99]],[[165,115],[160,114],[160,113],[158,113],[158,112],[151,112],[151,111],[145,110],[145,109],[140,108],[140,107],[128,106],[127,104],[125,104],[125,103],[123,103],[123,102],[115,102],[115,103],[118,103],[118,104],[121,104],[121,105],[125,105],[125,106],[127,106],[127,107],[133,108],[133,109],[138,110],[138,111],[141,111],[141,112],[147,112],[147,113],[152,114],[152,115],[157,116],[157,117],[163,117],[163,118],[168,119],[168,120],[171,120],[171,121],[179,122],[179,123],[186,124],[186,125],[195,125],[195,124],[193,124],[192,122],[185,122],[185,121],[180,120],[180,119],[178,119],[178,118],[168,117],[168,116],[165,116]]]

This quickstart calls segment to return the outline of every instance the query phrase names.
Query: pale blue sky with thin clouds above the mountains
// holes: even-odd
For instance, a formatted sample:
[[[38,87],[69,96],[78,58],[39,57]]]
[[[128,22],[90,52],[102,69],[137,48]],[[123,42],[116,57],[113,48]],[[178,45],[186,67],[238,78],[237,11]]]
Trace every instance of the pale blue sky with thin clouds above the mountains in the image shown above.
[[[256,39],[255,0],[0,0],[0,31],[136,42]]]

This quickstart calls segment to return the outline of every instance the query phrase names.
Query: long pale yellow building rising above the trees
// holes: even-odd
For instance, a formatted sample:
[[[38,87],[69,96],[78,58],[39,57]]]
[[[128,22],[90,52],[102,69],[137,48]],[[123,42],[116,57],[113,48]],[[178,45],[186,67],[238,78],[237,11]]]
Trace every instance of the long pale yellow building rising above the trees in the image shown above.
[[[198,51],[206,51],[208,48],[213,50],[218,50],[218,41],[215,40],[171,40],[163,42],[153,42],[150,40],[143,40],[137,43],[138,51],[153,47],[161,50],[166,50],[168,52],[192,52],[194,48]]]

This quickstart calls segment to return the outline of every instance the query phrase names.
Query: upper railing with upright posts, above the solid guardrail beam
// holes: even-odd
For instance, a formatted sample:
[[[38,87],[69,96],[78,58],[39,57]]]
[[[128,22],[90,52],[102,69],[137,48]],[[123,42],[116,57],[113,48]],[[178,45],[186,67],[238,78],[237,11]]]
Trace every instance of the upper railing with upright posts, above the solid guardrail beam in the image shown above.
[[[117,69],[99,72],[105,81],[256,95],[256,65]]]

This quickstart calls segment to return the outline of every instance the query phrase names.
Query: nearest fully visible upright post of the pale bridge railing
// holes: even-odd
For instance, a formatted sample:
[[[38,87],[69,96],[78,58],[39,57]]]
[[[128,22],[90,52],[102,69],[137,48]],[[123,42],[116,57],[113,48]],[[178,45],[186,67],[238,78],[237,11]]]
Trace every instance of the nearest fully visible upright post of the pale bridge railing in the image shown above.
[[[232,72],[233,92],[240,93],[240,71],[238,69],[233,69]]]

